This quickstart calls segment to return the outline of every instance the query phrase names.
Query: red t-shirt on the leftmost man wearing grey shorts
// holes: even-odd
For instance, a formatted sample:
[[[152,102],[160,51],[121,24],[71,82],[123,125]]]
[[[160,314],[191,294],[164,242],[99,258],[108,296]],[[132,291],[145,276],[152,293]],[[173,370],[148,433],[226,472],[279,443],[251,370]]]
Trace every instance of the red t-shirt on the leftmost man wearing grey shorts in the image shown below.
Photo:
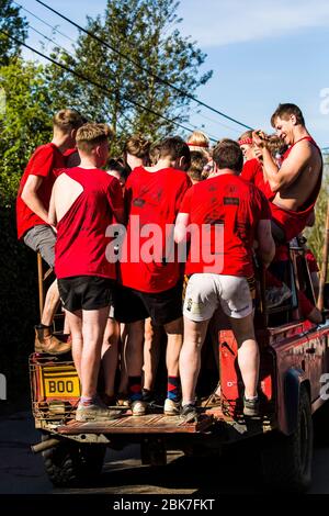
[[[22,200],[22,191],[29,176],[39,176],[43,182],[37,190],[37,197],[41,199],[46,210],[49,207],[53,184],[56,180],[54,169],[65,167],[65,157],[54,144],[41,145],[31,157],[26,169],[21,179],[18,200],[16,200],[16,223],[18,237],[22,238],[31,227],[38,224],[46,224],[37,216]]]

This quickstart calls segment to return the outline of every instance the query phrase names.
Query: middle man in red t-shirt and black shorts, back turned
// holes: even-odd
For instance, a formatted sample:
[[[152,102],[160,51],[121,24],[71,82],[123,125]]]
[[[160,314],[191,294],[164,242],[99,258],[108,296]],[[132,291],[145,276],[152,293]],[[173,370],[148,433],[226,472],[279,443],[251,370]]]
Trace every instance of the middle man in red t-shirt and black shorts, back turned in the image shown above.
[[[190,178],[190,149],[180,137],[159,145],[154,167],[137,167],[126,182],[129,221],[121,255],[122,289],[114,316],[128,324],[127,371],[134,415],[143,415],[144,319],[163,325],[168,336],[168,395],[164,413],[179,413],[179,354],[182,346],[182,281],[174,255],[173,224]],[[152,235],[152,237],[151,237]],[[151,238],[150,238],[151,237]],[[169,244],[169,245],[167,245]]]

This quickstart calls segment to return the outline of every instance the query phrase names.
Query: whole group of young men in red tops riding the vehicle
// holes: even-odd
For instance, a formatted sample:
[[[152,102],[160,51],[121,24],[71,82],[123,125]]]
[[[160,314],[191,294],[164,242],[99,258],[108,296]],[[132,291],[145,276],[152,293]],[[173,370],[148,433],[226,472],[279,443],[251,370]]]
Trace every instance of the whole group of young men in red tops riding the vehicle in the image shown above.
[[[86,123],[72,110],[55,115],[53,142],[36,149],[21,181],[18,229],[19,238],[55,265],[57,282],[47,293],[35,350],[64,354],[71,347],[81,382],[78,420],[117,417],[109,406],[117,394],[120,340],[118,391],[128,394],[133,415],[146,413],[161,328],[163,411],[196,418],[201,348],[217,311],[228,317],[238,343],[243,413],[258,415],[253,255],[264,267],[274,262],[277,292],[286,296],[282,249],[311,224],[322,169],[296,105],[281,104],[271,122],[275,137],[245,133],[212,150],[203,133],[152,147],[132,137],[123,158],[109,161],[113,135],[106,125]],[[69,343],[52,334],[58,290]]]

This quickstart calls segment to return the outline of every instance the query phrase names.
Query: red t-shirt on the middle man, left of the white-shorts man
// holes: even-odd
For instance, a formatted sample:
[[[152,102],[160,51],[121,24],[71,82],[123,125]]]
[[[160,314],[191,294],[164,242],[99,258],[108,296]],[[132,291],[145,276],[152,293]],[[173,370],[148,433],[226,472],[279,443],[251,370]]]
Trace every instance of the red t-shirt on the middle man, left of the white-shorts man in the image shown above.
[[[173,244],[173,224],[190,186],[189,176],[174,168],[149,172],[144,167],[136,167],[128,177],[125,202],[129,220],[120,265],[125,287],[157,293],[178,283],[180,265]],[[158,238],[148,232],[148,224],[156,224]]]

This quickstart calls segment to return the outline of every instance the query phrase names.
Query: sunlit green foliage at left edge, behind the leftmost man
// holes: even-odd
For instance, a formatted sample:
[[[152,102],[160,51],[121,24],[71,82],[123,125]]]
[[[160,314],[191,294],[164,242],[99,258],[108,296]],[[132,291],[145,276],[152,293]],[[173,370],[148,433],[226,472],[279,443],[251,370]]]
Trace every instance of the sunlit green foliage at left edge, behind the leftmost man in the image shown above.
[[[32,153],[49,141],[53,105],[41,65],[12,59],[0,67],[0,205],[10,206]]]

